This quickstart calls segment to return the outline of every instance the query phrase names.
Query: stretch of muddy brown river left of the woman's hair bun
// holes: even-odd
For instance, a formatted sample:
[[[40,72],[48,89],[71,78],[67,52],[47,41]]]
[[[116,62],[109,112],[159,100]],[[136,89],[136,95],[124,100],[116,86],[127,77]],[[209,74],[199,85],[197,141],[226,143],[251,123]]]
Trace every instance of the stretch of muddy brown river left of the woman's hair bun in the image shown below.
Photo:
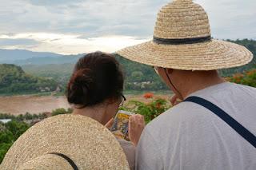
[[[54,109],[70,108],[66,97],[38,97],[38,96],[14,96],[0,97],[0,113],[13,115],[25,113],[46,113]]]

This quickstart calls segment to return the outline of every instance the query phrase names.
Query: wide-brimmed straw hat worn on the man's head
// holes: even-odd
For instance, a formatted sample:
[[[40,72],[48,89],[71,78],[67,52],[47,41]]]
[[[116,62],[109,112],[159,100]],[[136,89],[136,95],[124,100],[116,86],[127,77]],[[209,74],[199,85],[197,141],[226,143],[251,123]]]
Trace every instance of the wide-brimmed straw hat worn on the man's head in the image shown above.
[[[208,16],[192,0],[176,0],[163,6],[153,40],[117,53],[142,64],[182,70],[231,68],[246,65],[253,58],[241,45],[211,38]]]

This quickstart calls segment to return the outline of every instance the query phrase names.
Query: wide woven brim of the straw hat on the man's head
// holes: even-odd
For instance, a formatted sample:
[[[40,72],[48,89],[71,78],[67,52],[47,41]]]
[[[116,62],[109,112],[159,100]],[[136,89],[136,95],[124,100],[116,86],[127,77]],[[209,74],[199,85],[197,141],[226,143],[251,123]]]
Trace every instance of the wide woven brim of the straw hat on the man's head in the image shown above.
[[[116,53],[142,64],[182,70],[225,69],[246,65],[253,59],[253,54],[242,45],[220,40],[186,45],[158,45],[150,41]]]

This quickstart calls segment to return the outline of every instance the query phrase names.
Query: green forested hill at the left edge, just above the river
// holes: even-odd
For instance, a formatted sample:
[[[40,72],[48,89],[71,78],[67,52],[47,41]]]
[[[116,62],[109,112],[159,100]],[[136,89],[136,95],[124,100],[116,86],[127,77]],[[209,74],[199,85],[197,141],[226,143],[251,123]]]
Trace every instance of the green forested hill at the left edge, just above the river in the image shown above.
[[[0,95],[51,92],[57,86],[53,79],[31,76],[17,65],[0,65]]]

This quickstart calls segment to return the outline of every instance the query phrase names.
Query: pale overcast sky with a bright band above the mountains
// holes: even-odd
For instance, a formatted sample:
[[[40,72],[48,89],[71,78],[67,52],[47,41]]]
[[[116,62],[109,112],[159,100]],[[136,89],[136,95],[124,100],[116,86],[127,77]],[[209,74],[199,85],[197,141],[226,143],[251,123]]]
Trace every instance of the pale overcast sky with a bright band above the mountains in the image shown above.
[[[171,0],[0,0],[0,48],[54,53],[114,52],[152,38]],[[255,0],[194,0],[218,39],[256,39]]]

